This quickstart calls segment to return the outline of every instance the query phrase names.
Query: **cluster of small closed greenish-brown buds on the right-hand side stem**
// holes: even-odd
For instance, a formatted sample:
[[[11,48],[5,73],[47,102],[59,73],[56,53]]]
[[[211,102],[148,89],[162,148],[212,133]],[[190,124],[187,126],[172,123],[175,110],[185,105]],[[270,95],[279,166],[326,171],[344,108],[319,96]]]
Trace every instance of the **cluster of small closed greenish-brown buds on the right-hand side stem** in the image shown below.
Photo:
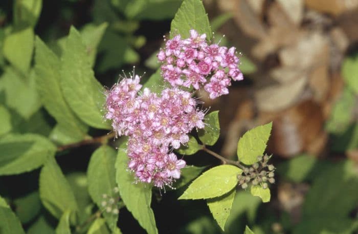
[[[237,175],[239,185],[245,189],[251,183],[252,185],[261,185],[262,188],[267,188],[267,183],[275,183],[275,166],[267,164],[270,156],[264,155],[258,156],[257,163],[254,163],[251,167],[245,167],[242,174]]]

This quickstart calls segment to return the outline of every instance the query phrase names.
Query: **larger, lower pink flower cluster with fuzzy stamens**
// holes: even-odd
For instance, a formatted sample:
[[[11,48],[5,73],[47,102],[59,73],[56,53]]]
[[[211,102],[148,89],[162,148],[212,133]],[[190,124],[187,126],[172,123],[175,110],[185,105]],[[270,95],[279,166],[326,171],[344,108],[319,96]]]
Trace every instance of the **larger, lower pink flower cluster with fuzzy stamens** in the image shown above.
[[[180,178],[186,162],[171,148],[189,141],[188,133],[204,127],[205,113],[196,109],[191,93],[173,87],[161,95],[139,84],[140,77],[124,78],[106,94],[106,119],[118,135],[129,137],[128,167],[143,182],[163,187]]]

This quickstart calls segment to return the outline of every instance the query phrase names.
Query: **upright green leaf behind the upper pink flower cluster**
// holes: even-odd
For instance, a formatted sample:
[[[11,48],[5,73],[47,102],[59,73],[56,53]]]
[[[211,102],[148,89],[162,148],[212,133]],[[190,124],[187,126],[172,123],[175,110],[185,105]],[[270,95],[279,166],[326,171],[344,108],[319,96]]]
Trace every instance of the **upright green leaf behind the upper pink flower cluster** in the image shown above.
[[[180,34],[182,38],[190,37],[189,30],[195,29],[199,34],[206,33],[212,37],[209,18],[201,0],[184,0],[170,25],[170,37]]]

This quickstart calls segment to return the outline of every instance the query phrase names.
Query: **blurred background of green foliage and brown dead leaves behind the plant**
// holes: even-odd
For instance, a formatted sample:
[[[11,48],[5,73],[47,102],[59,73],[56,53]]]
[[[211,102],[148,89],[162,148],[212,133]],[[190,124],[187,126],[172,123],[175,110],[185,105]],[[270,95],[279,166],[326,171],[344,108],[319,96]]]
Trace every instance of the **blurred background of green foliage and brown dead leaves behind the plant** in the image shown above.
[[[76,141],[56,128],[40,102],[33,70],[34,35],[61,55],[63,37],[74,25],[104,86],[111,87],[122,70],[132,71],[133,66],[137,74],[146,72],[145,80],[159,67],[155,54],[181,2],[1,1],[0,139],[9,133],[36,133],[58,146]],[[222,135],[214,151],[234,157],[245,131],[272,120],[269,148],[278,167],[272,201],[262,204],[247,192],[237,193],[225,233],[242,233],[246,224],[256,234],[357,233],[358,1],[204,0],[204,5],[214,40],[242,52],[245,76],[233,83],[229,95],[214,101],[196,93],[205,107],[220,111]],[[106,133],[89,130],[91,136]],[[82,146],[57,157],[88,214],[93,204],[85,172],[95,148]],[[11,150],[3,148],[0,163]],[[186,160],[195,165],[219,163],[201,154]],[[2,176],[0,194],[27,233],[54,233],[56,220],[41,205],[38,177],[39,169]],[[159,232],[220,233],[205,202],[176,200],[183,190],[154,198]],[[119,226],[123,233],[144,233],[125,209]]]

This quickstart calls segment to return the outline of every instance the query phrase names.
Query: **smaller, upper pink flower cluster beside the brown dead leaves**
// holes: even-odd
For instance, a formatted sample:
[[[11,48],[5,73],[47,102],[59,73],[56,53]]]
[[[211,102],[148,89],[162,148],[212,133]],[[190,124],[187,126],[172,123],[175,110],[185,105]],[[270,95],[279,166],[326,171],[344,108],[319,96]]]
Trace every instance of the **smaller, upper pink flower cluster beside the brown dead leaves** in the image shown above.
[[[167,40],[157,57],[163,62],[162,76],[171,86],[196,90],[204,86],[211,99],[228,94],[231,79],[243,79],[235,47],[208,45],[206,34],[199,35],[193,29],[189,38],[176,35]]]

